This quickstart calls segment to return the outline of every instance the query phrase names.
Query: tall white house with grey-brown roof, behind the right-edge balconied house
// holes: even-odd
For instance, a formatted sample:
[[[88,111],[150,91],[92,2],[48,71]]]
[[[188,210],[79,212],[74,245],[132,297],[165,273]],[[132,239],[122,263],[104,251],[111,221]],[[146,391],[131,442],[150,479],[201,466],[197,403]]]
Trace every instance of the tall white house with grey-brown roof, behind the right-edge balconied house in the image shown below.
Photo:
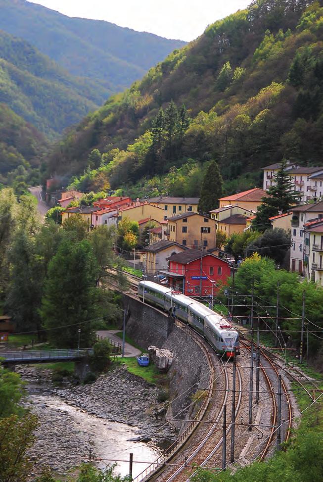
[[[309,263],[309,241],[304,242],[304,226],[310,221],[323,217],[323,201],[304,204],[291,208],[291,248],[290,271],[298,271],[304,275],[304,265]]]

